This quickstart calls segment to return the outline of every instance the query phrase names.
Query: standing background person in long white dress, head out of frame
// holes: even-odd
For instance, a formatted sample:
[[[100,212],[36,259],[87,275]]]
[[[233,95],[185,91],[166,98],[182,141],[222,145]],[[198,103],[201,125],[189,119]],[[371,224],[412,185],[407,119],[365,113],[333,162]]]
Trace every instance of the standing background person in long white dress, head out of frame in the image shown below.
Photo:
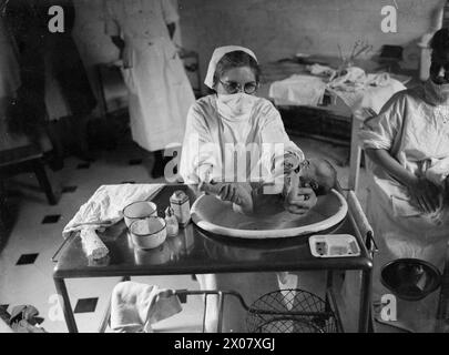
[[[105,0],[105,32],[119,48],[129,89],[133,140],[154,152],[153,178],[164,174],[163,150],[181,145],[195,97],[172,38],[172,1]]]

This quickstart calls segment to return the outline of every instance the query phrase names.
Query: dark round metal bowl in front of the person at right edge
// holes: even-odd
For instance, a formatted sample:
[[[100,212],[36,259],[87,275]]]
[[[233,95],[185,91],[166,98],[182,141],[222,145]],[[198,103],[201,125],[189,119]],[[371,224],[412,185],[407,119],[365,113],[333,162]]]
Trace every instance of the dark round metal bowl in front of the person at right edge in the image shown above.
[[[438,268],[419,258],[398,258],[384,265],[380,281],[405,301],[420,301],[441,284]]]

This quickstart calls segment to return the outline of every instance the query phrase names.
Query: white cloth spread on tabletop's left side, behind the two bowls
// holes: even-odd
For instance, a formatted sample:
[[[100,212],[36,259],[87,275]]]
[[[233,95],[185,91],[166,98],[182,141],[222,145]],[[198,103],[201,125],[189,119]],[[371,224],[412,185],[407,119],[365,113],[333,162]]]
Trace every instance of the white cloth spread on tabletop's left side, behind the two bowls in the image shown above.
[[[83,229],[99,230],[123,219],[123,209],[134,201],[147,200],[163,187],[163,184],[102,185],[84,203],[75,216],[65,225],[62,236]]]

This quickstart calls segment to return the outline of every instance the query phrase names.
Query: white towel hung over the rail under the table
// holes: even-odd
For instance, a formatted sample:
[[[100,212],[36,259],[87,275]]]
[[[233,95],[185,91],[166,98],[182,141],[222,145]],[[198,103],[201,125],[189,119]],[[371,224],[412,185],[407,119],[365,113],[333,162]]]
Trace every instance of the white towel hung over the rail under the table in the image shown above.
[[[135,283],[119,283],[112,291],[111,328],[116,333],[151,333],[151,325],[182,311],[172,290]]]

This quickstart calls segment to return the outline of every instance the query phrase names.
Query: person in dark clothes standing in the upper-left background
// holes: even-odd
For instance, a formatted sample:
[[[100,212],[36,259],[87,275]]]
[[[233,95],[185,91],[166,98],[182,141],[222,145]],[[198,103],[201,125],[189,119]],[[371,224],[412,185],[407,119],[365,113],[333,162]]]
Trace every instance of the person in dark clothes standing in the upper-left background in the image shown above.
[[[50,32],[49,8],[64,10],[64,31]],[[91,160],[88,146],[88,120],[96,105],[88,75],[72,39],[74,6],[71,0],[9,1],[4,8],[9,30],[18,49],[21,87],[9,108],[9,123],[13,132],[25,133],[43,151],[42,141],[48,136],[53,148],[50,166],[63,166],[64,138],[54,121],[49,121],[49,109],[57,103],[53,98],[45,104],[48,80],[58,83],[61,100],[73,116],[76,155]],[[50,104],[50,106],[49,106]]]

